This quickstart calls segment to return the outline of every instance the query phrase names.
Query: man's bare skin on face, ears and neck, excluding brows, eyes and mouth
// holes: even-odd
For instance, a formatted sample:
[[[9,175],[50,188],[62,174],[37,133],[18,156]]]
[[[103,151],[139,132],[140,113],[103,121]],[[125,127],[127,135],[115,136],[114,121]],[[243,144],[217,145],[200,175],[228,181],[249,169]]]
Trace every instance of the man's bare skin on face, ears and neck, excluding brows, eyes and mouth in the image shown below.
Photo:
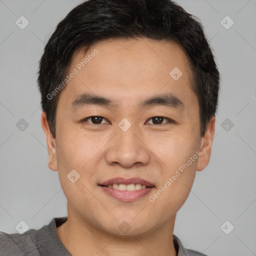
[[[198,101],[190,86],[187,57],[178,44],[146,38],[108,39],[94,43],[86,54],[95,48],[99,52],[61,91],[55,139],[45,113],[41,114],[49,168],[58,170],[67,198],[68,219],[57,234],[73,256],[174,256],[176,212],[188,197],[196,171],[209,162],[215,117],[200,137]],[[83,50],[76,50],[69,70],[82,59]],[[176,81],[169,75],[175,66],[183,73]],[[84,105],[72,111],[71,102],[83,92],[110,98],[118,106]],[[183,110],[137,106],[138,101],[165,92],[176,95],[184,103]],[[100,124],[92,119],[78,122],[95,115],[105,119]],[[154,116],[177,123],[163,119],[157,124],[151,119]],[[131,123],[125,132],[118,127],[123,118]],[[150,202],[149,196],[197,151],[200,156]],[[66,177],[71,169],[80,174],[74,183]],[[117,176],[140,177],[155,187],[137,200],[122,202],[97,185]],[[130,226],[125,234],[118,228],[123,221]]]

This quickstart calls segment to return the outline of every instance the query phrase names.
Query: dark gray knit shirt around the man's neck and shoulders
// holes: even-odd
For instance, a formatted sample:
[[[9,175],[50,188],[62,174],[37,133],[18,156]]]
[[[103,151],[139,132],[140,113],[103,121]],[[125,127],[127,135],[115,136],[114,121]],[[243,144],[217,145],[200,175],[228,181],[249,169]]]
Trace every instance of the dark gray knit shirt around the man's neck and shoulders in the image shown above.
[[[55,217],[48,225],[40,229],[29,229],[23,234],[0,232],[0,256],[71,256],[60,241],[56,230],[56,227],[66,220],[67,217]],[[206,256],[184,248],[174,234],[173,243],[177,256]]]

